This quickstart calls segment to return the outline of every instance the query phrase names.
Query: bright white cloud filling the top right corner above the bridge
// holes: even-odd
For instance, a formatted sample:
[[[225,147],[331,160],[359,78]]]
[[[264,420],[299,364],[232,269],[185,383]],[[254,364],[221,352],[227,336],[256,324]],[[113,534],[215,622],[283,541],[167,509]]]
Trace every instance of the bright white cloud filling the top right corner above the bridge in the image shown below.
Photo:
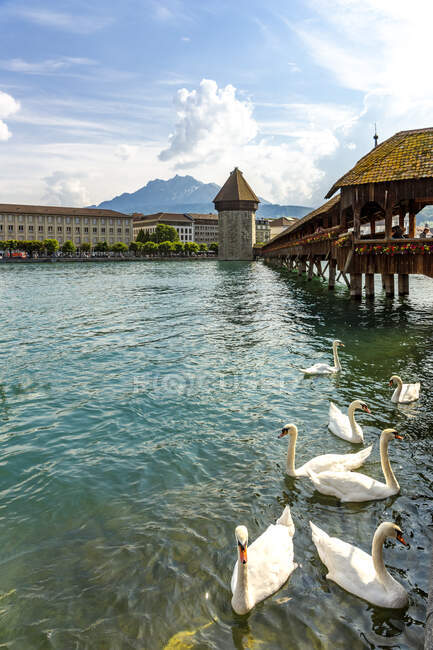
[[[318,21],[298,26],[316,62],[365,95],[391,129],[431,126],[433,4],[413,0],[310,0]],[[418,123],[409,124],[409,120]],[[379,121],[379,119],[378,119]]]

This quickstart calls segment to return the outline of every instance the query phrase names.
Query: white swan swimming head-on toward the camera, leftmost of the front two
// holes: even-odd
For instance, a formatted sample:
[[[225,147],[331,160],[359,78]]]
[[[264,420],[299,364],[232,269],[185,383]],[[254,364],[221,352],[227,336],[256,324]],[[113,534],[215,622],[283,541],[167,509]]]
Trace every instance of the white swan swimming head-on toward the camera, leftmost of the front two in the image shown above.
[[[235,530],[238,560],[233,570],[231,588],[232,607],[237,614],[246,614],[260,601],[278,591],[297,565],[293,562],[293,535],[295,526],[289,506],[276,524],[248,547],[248,530]]]

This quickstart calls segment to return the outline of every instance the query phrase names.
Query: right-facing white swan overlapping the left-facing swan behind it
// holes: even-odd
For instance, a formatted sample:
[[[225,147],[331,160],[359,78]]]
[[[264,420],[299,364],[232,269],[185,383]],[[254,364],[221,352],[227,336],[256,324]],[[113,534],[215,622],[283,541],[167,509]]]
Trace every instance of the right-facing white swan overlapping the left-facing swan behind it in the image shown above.
[[[322,494],[335,496],[343,502],[372,501],[398,494],[400,486],[388,458],[388,443],[392,438],[402,440],[403,436],[399,435],[395,429],[384,429],[382,431],[380,436],[380,462],[386,483],[381,483],[357,472],[327,471],[315,474],[314,471],[309,469],[307,470],[308,476],[316,490]]]

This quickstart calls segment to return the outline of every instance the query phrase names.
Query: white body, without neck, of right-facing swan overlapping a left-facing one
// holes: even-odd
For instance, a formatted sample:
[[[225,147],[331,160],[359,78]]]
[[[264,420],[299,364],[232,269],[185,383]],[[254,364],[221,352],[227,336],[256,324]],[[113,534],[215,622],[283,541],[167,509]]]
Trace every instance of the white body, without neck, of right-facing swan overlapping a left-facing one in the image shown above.
[[[384,499],[392,494],[386,483],[357,472],[327,471],[315,474],[309,471],[308,475],[319,492],[335,496],[343,502]]]

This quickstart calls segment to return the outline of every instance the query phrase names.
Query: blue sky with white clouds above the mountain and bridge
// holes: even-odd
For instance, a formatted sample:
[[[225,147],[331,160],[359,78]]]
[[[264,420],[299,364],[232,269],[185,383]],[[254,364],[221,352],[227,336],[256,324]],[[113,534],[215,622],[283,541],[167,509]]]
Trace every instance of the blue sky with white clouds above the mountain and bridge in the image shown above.
[[[430,0],[0,0],[0,202],[98,204],[155,178],[316,207],[433,126]]]

